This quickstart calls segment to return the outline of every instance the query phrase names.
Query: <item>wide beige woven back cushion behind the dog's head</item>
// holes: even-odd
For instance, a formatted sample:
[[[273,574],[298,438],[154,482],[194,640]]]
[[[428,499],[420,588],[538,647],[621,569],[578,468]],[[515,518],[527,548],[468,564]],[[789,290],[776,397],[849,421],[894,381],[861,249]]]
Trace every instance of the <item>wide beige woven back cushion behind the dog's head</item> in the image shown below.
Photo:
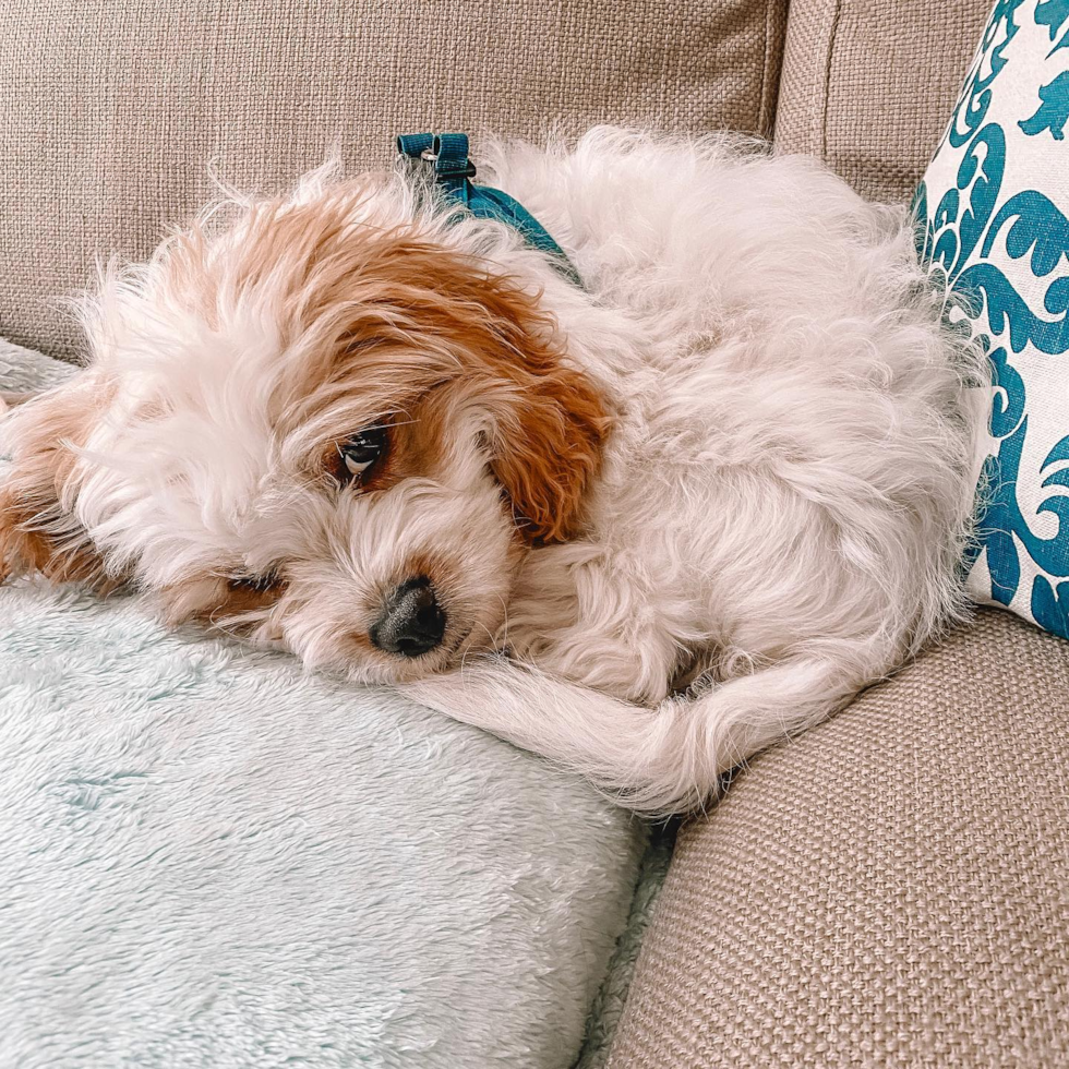
[[[337,136],[599,122],[769,133],[786,0],[4,0],[0,334],[71,359],[56,299],[144,256],[212,188],[275,190]],[[475,144],[478,156],[478,140]]]

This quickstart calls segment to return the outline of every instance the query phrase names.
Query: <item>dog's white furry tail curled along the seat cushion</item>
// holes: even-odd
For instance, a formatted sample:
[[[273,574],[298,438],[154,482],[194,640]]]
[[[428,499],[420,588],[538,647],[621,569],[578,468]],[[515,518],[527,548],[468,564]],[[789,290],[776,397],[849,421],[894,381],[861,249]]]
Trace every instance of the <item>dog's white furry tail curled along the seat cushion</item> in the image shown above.
[[[701,808],[724,772],[825,719],[870,677],[841,658],[800,656],[648,709],[500,660],[403,689],[665,816]]]

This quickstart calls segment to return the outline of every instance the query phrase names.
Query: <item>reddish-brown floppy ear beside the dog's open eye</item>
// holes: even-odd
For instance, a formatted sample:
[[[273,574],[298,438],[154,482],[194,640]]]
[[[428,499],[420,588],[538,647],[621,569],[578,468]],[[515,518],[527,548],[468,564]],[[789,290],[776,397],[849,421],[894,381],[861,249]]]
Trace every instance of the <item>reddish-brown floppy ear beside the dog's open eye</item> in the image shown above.
[[[439,244],[376,240],[368,274],[379,292],[368,307],[394,303],[399,345],[410,350],[411,338],[421,339],[428,385],[444,376],[487,413],[491,467],[523,537],[573,537],[611,420],[543,295]],[[410,360],[401,367],[411,380]]]

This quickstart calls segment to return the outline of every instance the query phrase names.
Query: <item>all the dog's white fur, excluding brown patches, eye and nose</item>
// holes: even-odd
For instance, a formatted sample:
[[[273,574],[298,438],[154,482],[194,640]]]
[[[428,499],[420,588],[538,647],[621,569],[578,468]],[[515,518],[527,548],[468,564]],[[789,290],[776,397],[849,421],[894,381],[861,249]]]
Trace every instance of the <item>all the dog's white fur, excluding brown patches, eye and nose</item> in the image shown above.
[[[170,245],[106,280],[87,317],[99,418],[61,480],[68,519],[52,508],[44,527],[70,545],[73,516],[107,574],[172,602],[176,586],[195,601],[228,569],[283,566],[285,594],[249,614],[254,638],[400,683],[636,808],[700,805],[726,769],[961,613],[981,358],[941,325],[904,209],[866,204],[815,161],[598,129],[573,151],[493,146],[480,180],[543,223],[584,290],[505,227],[448,225],[411,173],[369,179],[347,226],[410,227],[546,313],[539,344],[560,344],[613,421],[567,539],[520,549],[500,505],[492,460],[521,422],[508,384],[493,403],[451,401],[433,459],[380,494],[298,477],[345,420],[396,420],[416,401],[363,380],[336,391],[328,427],[309,411],[279,430],[301,410],[295,369],[315,364],[341,313],[327,303],[291,328],[293,302],[312,300],[312,283],[295,289],[301,249],[233,281],[252,203],[202,224],[209,315],[196,279],[176,284]],[[321,169],[278,212],[336,190]],[[370,301],[375,281],[343,303]],[[452,359],[448,339],[389,314],[413,374]],[[40,404],[5,421],[16,461]],[[401,663],[357,638],[416,557],[445,560],[454,630]],[[475,656],[494,648],[511,660]]]

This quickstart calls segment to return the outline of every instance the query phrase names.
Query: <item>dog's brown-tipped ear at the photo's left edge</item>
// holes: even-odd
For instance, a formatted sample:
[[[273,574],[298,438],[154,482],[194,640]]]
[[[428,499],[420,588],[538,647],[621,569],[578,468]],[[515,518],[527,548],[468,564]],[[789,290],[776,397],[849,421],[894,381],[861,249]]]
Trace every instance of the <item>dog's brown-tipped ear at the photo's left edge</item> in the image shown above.
[[[85,441],[97,397],[80,379],[3,417],[12,456],[0,465],[0,581],[39,572],[56,581],[113,585],[71,514],[72,502],[64,504],[71,445]]]

